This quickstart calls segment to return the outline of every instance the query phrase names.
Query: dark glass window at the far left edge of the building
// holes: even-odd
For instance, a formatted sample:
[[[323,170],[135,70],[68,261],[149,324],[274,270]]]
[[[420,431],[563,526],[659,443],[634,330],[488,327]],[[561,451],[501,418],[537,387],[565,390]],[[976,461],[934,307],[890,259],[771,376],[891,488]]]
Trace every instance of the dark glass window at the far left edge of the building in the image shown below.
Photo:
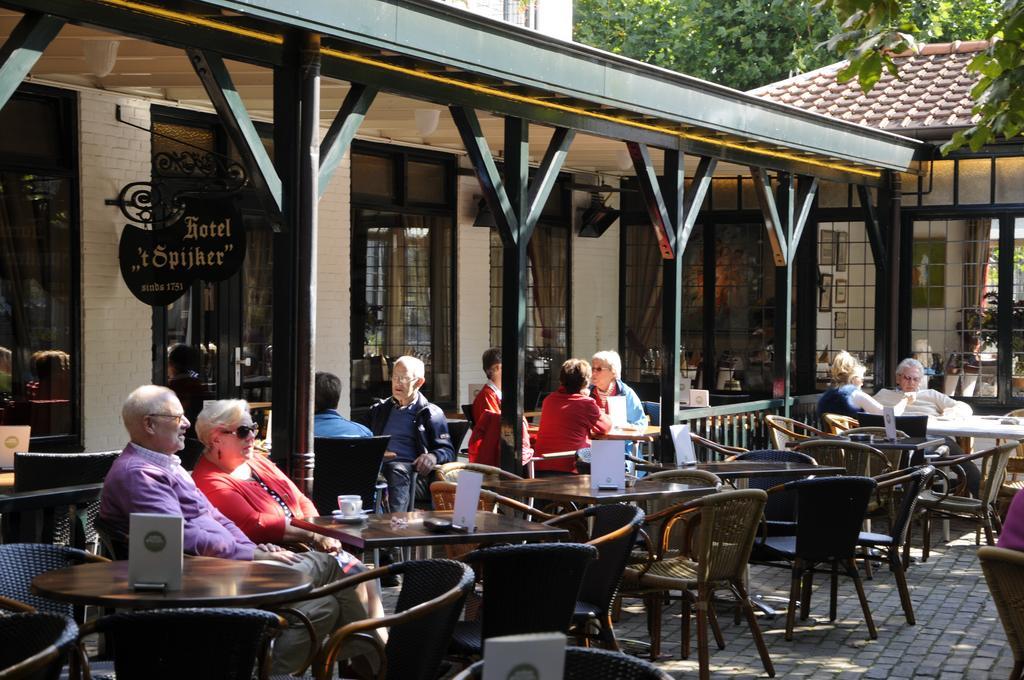
[[[33,439],[79,429],[74,113],[38,89],[0,111],[0,423]]]

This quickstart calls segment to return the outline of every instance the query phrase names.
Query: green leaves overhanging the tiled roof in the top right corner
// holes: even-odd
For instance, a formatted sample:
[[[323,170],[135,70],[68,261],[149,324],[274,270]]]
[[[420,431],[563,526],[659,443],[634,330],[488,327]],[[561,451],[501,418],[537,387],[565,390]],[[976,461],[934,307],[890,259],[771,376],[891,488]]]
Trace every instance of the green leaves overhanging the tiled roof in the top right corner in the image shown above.
[[[842,27],[827,42],[849,65],[841,82],[856,78],[870,91],[886,69],[898,76],[892,54],[918,49],[919,41],[993,39],[968,66],[980,76],[971,94],[979,116],[972,128],[957,132],[943,153],[970,144],[977,151],[997,136],[1015,137],[1024,130],[1024,1],[821,0],[816,10],[839,17]]]

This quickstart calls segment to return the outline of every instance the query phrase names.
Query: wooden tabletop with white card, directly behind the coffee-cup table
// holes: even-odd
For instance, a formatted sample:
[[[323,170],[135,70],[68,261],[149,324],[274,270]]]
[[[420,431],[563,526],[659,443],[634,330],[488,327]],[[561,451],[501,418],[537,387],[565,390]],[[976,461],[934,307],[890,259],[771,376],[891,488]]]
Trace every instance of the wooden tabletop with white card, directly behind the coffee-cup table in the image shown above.
[[[484,481],[484,486],[502,496],[539,498],[545,501],[583,505],[677,498],[685,501],[714,494],[716,491],[708,486],[646,479],[640,479],[626,488],[592,488],[589,474],[559,475],[537,479],[502,479],[490,483]]]

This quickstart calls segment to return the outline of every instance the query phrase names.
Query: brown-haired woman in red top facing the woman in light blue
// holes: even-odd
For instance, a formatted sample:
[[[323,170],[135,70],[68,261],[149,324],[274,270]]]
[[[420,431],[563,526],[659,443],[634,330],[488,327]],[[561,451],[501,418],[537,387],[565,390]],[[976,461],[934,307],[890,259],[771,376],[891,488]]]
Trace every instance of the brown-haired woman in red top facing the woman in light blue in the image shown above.
[[[537,455],[590,448],[590,435],[611,430],[611,419],[590,397],[590,364],[570,358],[562,364],[558,380],[561,387],[541,406],[541,430],[535,447]],[[574,474],[574,458],[537,461],[535,469],[543,474]]]

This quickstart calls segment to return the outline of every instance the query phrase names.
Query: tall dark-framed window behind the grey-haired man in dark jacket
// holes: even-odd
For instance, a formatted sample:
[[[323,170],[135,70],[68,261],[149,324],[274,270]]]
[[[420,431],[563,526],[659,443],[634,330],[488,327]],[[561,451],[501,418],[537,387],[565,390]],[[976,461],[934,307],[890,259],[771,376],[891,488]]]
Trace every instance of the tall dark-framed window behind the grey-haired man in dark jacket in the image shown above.
[[[391,393],[407,354],[426,365],[427,398],[455,405],[453,192],[447,157],[370,144],[352,155],[353,409]]]

